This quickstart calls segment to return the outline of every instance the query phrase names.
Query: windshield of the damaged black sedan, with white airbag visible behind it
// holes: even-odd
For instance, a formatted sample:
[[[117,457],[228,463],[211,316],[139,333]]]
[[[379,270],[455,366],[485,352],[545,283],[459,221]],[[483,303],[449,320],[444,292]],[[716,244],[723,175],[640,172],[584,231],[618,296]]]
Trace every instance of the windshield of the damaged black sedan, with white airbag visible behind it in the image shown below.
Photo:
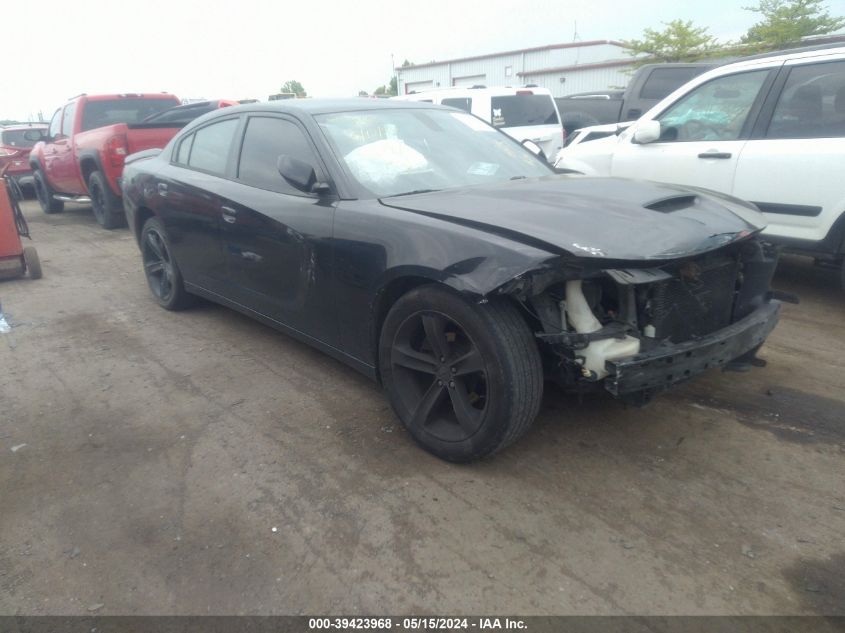
[[[315,118],[352,175],[378,197],[552,173],[518,143],[463,112],[375,110]]]

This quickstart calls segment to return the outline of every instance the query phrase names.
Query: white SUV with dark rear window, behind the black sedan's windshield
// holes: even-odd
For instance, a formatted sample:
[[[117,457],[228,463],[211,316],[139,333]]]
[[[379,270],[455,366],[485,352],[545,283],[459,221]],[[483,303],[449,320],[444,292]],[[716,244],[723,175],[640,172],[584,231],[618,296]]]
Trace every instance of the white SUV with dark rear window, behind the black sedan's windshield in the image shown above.
[[[443,88],[394,99],[459,108],[484,119],[520,143],[533,141],[549,161],[554,161],[565,140],[557,104],[546,88]]]

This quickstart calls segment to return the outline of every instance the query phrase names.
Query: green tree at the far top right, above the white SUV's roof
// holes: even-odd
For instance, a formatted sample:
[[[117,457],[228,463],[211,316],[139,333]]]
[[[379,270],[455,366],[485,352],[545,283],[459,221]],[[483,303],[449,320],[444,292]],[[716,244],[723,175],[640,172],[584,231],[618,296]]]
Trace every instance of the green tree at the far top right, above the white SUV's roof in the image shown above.
[[[761,50],[787,48],[804,37],[845,26],[845,18],[833,17],[825,10],[824,0],[760,0],[743,8],[759,13],[762,19],[748,29],[742,43]]]

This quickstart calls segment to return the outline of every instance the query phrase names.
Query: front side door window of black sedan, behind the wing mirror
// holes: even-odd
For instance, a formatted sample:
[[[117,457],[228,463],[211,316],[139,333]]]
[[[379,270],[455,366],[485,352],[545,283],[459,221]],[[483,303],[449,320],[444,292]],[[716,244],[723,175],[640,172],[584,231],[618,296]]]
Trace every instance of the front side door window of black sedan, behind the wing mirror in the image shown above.
[[[252,117],[246,126],[238,178],[261,189],[300,194],[276,169],[279,156],[288,154],[317,167],[308,139],[294,123],[271,117]]]

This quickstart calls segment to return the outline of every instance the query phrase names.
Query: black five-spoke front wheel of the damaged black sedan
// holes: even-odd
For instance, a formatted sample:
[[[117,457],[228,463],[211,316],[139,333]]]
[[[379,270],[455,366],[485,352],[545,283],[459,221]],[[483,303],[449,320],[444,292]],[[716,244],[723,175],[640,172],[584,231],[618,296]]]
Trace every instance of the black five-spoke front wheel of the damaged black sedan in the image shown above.
[[[515,442],[543,396],[540,354],[518,309],[505,300],[470,303],[435,285],[412,290],[390,310],[379,366],[405,428],[451,462]]]

